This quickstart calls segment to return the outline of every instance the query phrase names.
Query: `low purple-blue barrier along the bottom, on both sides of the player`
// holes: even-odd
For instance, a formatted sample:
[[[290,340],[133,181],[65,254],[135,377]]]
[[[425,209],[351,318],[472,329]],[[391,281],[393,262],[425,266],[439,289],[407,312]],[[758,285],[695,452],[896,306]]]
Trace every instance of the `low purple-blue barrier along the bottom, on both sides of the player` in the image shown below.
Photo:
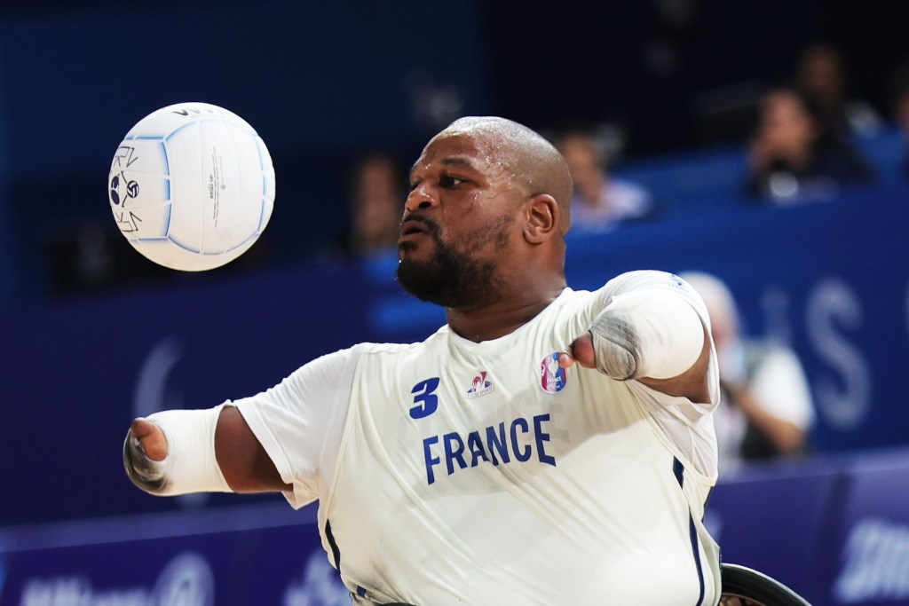
[[[815,606],[909,604],[909,450],[746,468],[719,483],[705,521],[724,561],[764,571]],[[313,506],[0,530],[0,606],[75,603],[340,606],[349,598]]]

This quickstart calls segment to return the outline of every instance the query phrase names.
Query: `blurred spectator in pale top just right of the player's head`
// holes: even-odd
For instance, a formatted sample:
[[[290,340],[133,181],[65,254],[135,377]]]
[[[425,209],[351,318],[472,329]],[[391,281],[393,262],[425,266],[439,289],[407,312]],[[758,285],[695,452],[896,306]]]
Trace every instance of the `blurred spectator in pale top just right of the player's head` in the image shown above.
[[[651,195],[640,185],[609,174],[606,154],[593,136],[567,133],[555,146],[574,180],[574,233],[604,232],[617,224],[654,217],[656,205]]]

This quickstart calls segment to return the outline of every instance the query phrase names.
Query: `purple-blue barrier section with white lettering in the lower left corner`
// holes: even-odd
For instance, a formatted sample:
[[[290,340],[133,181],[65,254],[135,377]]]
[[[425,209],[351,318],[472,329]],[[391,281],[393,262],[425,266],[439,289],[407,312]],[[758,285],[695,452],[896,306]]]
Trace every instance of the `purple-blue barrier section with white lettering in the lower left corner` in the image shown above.
[[[322,550],[315,512],[231,509],[7,534],[0,604],[350,604]]]

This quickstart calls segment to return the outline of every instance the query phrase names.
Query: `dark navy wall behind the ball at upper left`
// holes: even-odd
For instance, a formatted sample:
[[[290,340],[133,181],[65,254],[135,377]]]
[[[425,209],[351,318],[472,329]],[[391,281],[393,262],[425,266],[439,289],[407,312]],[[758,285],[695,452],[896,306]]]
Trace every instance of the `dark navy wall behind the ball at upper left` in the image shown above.
[[[115,234],[105,182],[117,145],[146,114],[182,101],[240,114],[268,145],[282,175],[262,247],[270,261],[327,247],[345,233],[358,154],[382,148],[410,162],[439,121],[488,106],[477,3],[414,8],[0,8],[0,269],[13,270],[0,272],[0,306],[47,295],[50,243],[86,225]]]

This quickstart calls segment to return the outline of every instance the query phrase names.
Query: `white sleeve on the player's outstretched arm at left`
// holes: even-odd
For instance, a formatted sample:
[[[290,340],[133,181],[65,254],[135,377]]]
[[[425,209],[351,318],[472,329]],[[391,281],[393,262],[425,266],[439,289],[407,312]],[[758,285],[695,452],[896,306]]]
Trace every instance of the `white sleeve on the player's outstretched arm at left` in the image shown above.
[[[293,486],[285,498],[295,508],[319,498],[335,470],[360,349],[326,354],[274,387],[228,402]]]

